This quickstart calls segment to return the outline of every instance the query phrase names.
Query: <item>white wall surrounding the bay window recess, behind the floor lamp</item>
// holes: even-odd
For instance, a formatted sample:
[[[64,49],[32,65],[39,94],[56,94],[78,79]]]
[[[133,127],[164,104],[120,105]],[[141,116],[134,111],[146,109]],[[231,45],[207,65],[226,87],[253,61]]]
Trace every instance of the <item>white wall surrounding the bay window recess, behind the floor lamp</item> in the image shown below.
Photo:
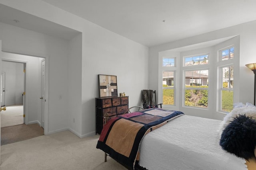
[[[256,63],[255,57],[255,46],[256,46],[256,21],[243,23],[233,27],[228,27],[213,31],[210,33],[205,33],[202,35],[189,37],[179,41],[174,41],[166,43],[163,45],[158,45],[155,47],[150,47],[149,49],[149,74],[153,77],[149,80],[149,88],[156,89],[158,88],[158,82],[155,82],[154,79],[158,78],[158,53],[161,51],[166,51],[170,49],[176,49],[179,47],[186,47],[188,45],[194,45],[198,43],[203,43],[215,39],[221,39],[225,37],[240,35],[240,76],[239,76],[239,90],[237,90],[239,96],[239,102],[250,102],[253,103],[254,100],[254,74],[249,70],[245,64]],[[246,83],[245,83],[246,82]],[[181,106],[180,106],[181,107]],[[180,109],[180,108],[178,108]],[[192,111],[192,110],[191,110]],[[185,113],[186,114],[186,113]],[[190,113],[188,113],[190,114]],[[197,115],[196,110],[193,112],[194,115]],[[225,114],[221,116],[218,115],[214,118],[222,119]]]

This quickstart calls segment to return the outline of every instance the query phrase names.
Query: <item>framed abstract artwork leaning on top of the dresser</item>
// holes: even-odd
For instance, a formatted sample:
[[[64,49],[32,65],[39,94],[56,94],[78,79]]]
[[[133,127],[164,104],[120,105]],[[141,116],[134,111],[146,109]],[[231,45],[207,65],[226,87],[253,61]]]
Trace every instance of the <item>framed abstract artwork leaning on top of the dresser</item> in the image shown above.
[[[102,75],[99,76],[100,98],[117,96],[117,80],[116,76]]]

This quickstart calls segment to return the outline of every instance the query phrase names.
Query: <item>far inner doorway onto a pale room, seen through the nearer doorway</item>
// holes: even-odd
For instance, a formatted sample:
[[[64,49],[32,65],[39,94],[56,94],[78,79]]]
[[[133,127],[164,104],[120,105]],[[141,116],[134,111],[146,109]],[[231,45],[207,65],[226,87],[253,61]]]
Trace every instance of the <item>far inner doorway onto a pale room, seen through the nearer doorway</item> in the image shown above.
[[[1,128],[25,123],[25,72],[26,63],[2,61],[1,104],[6,111],[1,115]]]

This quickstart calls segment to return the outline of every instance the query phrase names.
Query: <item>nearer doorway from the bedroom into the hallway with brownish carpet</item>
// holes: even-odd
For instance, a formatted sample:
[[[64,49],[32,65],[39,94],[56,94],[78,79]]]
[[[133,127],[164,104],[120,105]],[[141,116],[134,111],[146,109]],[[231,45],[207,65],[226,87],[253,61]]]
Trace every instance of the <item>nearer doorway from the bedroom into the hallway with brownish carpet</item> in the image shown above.
[[[21,124],[17,123],[19,125],[6,125],[5,127],[1,128],[1,145],[23,141],[46,134],[44,131],[47,129],[42,128],[44,127],[44,124],[42,124],[42,119],[44,116],[42,116],[43,114],[41,106],[43,102],[40,100],[42,96],[42,87],[44,87],[45,93],[43,97],[47,97],[46,90],[48,90],[48,86],[46,86],[46,83],[48,83],[48,81],[45,78],[47,76],[47,67],[45,64],[46,59],[6,52],[3,52],[2,54],[2,71],[5,72],[5,97],[3,97],[2,100],[5,100],[5,107],[7,112],[11,111],[12,109],[18,109],[18,107],[20,107],[20,113],[22,114],[16,115],[15,118],[20,117],[21,119],[19,120],[22,120],[22,122]],[[42,61],[44,61],[44,74],[42,74]],[[11,74],[6,70],[11,69],[13,71],[15,69],[8,66],[8,64],[18,65],[18,67],[16,67],[16,72],[20,73],[21,71],[22,75],[19,74],[17,76],[16,74],[16,76],[11,76]],[[6,65],[7,68],[4,68],[3,65]],[[44,75],[44,82],[42,82],[42,75]],[[16,84],[15,89],[13,89],[13,87],[11,88],[11,85],[8,84],[8,78],[16,79],[16,82],[12,80],[13,83],[11,83],[12,86]],[[45,83],[46,85],[44,84],[44,86],[42,86],[42,83]],[[11,97],[8,96],[9,93],[16,94],[16,102],[10,102]],[[22,98],[22,102],[17,102],[18,98]],[[28,98],[30,100],[28,100]],[[12,104],[9,105],[10,103]],[[48,105],[46,105],[46,107],[48,107]],[[7,112],[6,114],[8,114]],[[4,125],[4,122],[6,121],[4,120],[3,113],[1,118],[1,123]]]

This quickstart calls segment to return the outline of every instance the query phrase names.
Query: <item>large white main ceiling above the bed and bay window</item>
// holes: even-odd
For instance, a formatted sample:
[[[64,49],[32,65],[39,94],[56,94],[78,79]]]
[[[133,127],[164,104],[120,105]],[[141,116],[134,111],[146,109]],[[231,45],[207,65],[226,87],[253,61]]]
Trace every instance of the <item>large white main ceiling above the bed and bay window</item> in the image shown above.
[[[256,0],[43,0],[148,47],[256,20]]]

